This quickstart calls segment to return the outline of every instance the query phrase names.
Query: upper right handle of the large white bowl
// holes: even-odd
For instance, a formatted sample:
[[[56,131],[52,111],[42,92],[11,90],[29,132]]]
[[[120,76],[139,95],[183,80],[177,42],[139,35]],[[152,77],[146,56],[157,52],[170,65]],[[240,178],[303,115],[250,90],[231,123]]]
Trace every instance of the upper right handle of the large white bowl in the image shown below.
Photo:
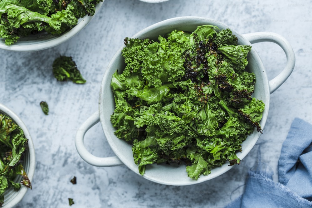
[[[282,85],[295,67],[295,53],[290,43],[283,37],[273,32],[254,32],[243,35],[251,44],[259,42],[273,42],[279,45],[286,55],[286,66],[279,75],[269,81],[271,94]]]

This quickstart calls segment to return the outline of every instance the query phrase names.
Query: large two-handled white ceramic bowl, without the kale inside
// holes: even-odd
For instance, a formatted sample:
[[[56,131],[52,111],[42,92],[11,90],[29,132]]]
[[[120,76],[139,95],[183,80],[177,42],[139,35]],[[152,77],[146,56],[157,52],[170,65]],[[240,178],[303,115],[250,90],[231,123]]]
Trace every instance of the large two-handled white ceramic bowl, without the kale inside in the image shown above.
[[[159,35],[165,35],[166,33],[173,31],[174,29],[183,30],[183,31],[194,31],[199,25],[215,25],[219,29],[230,28],[227,25],[224,25],[221,22],[201,18],[201,17],[177,17],[168,19],[162,22],[158,22],[150,27],[145,28],[144,30],[138,32],[133,37],[134,38],[146,38],[149,37],[153,40],[158,40]],[[248,70],[254,72],[256,75],[256,85],[254,97],[257,99],[263,100],[265,103],[265,110],[263,112],[263,117],[261,119],[260,125],[265,132],[265,123],[269,112],[270,104],[270,94],[275,91],[291,74],[295,66],[295,54],[290,46],[289,42],[285,40],[280,35],[270,32],[257,32],[241,35],[236,32],[233,28],[230,28],[238,37],[238,43],[244,45],[251,45],[256,42],[271,41],[278,44],[285,52],[286,55],[286,66],[277,75],[274,79],[268,80],[266,75],[266,69],[264,68],[260,57],[257,52],[252,48],[247,59],[249,61]],[[110,61],[105,75],[103,77],[101,86],[100,86],[100,98],[99,98],[99,111],[93,114],[89,119],[82,124],[81,128],[76,134],[76,148],[80,156],[88,163],[94,166],[115,166],[120,164],[125,164],[132,171],[139,174],[138,167],[134,164],[133,155],[131,151],[131,146],[126,143],[124,140],[117,138],[114,135],[115,129],[112,127],[110,122],[110,115],[115,109],[114,95],[110,88],[110,82],[112,79],[113,73],[118,69],[119,71],[124,69],[124,60],[121,56],[122,48],[117,51],[116,55]],[[116,156],[114,157],[95,157],[90,152],[88,152],[84,146],[83,138],[85,132],[92,127],[95,123],[99,122],[102,125],[105,137],[115,152]],[[242,152],[238,152],[237,156],[240,159],[243,159],[248,152],[251,151],[253,146],[256,144],[261,133],[254,131],[247,139],[242,143]],[[243,162],[243,161],[242,161]],[[175,166],[175,165],[149,165],[146,167],[145,174],[142,176],[150,181],[154,181],[161,184],[167,185],[190,185],[200,183],[202,181],[207,181],[212,178],[218,177],[221,174],[227,172],[232,168],[228,166],[229,163],[212,169],[211,174],[207,176],[200,176],[198,180],[192,180],[188,177],[185,165]]]

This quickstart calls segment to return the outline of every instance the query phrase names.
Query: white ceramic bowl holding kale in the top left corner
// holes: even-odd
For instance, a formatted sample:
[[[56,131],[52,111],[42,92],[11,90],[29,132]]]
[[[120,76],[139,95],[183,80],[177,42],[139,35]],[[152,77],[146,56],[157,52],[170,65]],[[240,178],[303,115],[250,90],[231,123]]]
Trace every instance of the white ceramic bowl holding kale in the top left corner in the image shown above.
[[[100,7],[103,5],[103,2],[100,2],[95,6],[95,14],[99,11]],[[93,16],[86,15],[83,18],[79,18],[75,27],[61,35],[52,35],[46,32],[40,32],[36,35],[22,37],[18,39],[16,43],[10,46],[5,45],[4,39],[0,39],[0,49],[8,51],[40,51],[57,46],[80,32],[93,19],[95,14]]]

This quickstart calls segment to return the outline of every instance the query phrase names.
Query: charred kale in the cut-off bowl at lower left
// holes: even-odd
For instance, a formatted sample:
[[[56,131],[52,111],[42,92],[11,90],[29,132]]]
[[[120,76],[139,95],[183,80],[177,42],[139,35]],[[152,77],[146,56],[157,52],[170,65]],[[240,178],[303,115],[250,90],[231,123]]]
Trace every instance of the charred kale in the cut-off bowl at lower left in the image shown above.
[[[0,114],[0,206],[8,188],[18,191],[21,184],[32,188],[21,163],[27,143],[23,130],[7,115]],[[17,175],[23,178],[20,183],[14,182]]]

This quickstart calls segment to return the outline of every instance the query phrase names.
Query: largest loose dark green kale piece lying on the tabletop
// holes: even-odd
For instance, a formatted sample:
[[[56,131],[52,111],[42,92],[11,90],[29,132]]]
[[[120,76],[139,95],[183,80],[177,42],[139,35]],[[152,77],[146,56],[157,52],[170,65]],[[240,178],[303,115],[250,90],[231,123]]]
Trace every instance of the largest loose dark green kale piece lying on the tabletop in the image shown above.
[[[71,56],[56,58],[52,67],[53,75],[58,81],[71,80],[76,84],[84,84],[86,82]]]

